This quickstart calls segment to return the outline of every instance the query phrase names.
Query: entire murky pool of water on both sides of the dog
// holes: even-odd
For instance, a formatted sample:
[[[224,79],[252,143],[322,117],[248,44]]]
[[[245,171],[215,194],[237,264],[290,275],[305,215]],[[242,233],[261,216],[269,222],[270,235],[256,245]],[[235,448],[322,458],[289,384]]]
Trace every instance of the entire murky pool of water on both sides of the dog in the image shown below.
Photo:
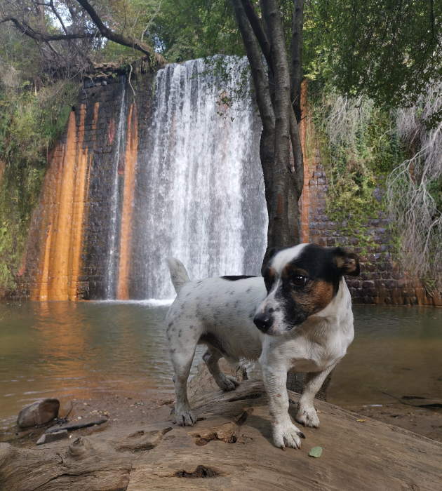
[[[149,302],[0,303],[0,428],[41,397],[173,391],[163,322]],[[356,337],[335,369],[329,401],[442,399],[442,310],[354,307]],[[201,362],[199,347],[195,366]]]

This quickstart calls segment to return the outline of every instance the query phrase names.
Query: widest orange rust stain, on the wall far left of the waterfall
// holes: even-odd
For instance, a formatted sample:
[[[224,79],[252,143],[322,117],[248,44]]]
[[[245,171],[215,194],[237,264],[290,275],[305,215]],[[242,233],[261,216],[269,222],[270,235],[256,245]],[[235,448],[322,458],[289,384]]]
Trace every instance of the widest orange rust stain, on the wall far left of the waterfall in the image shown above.
[[[95,107],[95,116],[97,112]],[[86,106],[81,105],[77,130],[75,113],[70,114],[67,142],[55,148],[46,173],[41,206],[47,215],[40,235],[46,236],[46,241],[39,257],[38,288],[32,290],[31,300],[78,300],[88,188],[88,149],[83,149],[85,116]]]

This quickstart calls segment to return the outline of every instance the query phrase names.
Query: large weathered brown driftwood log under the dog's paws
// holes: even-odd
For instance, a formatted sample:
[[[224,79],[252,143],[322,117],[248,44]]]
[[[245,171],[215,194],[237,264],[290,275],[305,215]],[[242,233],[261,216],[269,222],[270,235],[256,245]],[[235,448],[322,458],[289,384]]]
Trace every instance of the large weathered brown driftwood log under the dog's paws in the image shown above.
[[[283,452],[272,443],[260,381],[191,403],[193,427],[171,416],[35,449],[0,443],[0,490],[442,490],[442,444],[396,426],[316,401],[320,429],[302,429],[302,449]],[[321,457],[309,457],[318,445]]]

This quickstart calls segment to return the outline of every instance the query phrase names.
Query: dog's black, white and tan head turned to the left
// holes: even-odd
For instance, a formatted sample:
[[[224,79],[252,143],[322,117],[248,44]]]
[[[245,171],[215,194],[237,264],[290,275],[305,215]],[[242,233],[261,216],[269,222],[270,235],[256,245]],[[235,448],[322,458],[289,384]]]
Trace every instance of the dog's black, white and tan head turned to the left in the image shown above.
[[[262,275],[267,297],[253,322],[266,334],[284,334],[325,309],[345,274],[358,276],[359,261],[340,247],[300,244],[272,250]]]

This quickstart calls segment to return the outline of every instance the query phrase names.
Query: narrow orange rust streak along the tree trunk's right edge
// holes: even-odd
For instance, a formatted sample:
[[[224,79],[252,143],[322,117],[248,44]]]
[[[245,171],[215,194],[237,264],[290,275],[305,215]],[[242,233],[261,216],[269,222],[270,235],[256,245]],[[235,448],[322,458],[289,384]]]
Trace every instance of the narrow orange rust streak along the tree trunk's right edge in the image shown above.
[[[304,156],[304,186],[302,187],[301,196],[301,243],[308,243],[310,238],[310,228],[309,228],[309,212],[310,212],[310,157],[307,156],[307,79],[302,81],[301,85],[301,109],[302,109],[302,120],[301,120],[301,146],[302,155]]]

